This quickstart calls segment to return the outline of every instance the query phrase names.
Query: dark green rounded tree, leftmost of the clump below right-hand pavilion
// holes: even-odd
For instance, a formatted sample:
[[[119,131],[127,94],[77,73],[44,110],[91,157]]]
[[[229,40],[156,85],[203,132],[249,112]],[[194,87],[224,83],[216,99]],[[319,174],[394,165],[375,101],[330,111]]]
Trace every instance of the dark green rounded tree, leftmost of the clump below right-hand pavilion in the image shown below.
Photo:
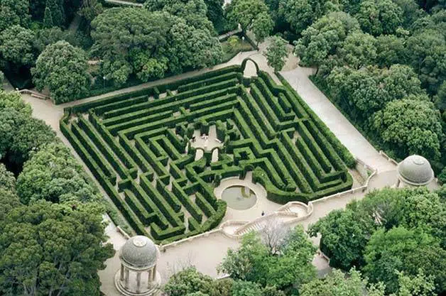
[[[330,266],[349,270],[364,265],[364,248],[376,230],[374,219],[352,209],[335,210],[310,226],[310,236],[321,234],[320,249]]]

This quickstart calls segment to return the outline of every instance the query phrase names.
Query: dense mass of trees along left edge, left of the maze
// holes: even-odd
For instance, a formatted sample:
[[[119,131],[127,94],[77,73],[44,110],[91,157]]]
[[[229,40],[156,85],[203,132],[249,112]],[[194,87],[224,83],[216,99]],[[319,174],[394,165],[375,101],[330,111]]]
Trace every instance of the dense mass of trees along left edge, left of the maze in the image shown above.
[[[97,189],[14,92],[0,91],[0,138],[0,294],[99,296],[114,251]]]

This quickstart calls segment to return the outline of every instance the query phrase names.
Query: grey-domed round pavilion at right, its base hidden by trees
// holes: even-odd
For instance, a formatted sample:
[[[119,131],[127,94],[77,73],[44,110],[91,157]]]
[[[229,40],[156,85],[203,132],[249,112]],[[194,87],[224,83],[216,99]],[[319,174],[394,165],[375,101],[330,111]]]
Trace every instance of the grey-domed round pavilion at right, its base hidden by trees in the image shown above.
[[[434,171],[427,159],[420,155],[410,155],[398,163],[396,187],[428,185],[434,178]]]

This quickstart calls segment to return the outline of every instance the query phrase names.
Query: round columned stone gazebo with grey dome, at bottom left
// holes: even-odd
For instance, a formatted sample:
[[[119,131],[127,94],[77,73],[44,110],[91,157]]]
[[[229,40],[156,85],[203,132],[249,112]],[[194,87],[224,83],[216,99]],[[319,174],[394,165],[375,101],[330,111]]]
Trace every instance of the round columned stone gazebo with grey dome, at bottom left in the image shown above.
[[[116,288],[126,296],[156,295],[161,277],[156,271],[159,255],[155,243],[146,236],[131,237],[121,251],[121,268],[115,275]]]

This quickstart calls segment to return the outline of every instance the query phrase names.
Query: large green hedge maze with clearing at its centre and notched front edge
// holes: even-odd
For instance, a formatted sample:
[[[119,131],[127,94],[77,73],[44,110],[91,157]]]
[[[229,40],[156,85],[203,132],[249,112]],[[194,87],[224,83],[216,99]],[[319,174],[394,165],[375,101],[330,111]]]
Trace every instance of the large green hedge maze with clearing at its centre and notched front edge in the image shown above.
[[[65,109],[62,133],[138,234],[167,242],[219,224],[225,177],[253,172],[268,199],[308,202],[352,187],[352,155],[283,80],[243,65]],[[218,160],[190,144],[215,126]]]

